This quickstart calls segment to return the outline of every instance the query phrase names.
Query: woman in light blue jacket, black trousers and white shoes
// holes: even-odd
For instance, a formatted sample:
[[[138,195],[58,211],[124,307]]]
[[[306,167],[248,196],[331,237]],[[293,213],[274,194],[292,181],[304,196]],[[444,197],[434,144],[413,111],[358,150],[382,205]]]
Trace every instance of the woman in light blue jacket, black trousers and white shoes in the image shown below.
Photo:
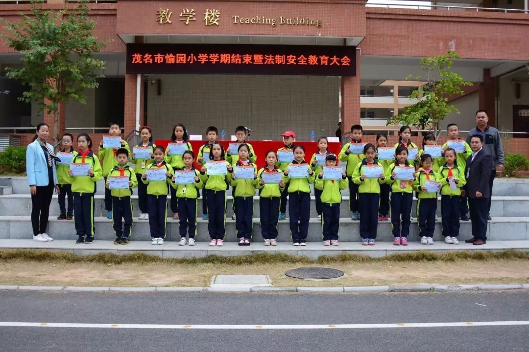
[[[31,191],[31,224],[33,240],[49,242],[53,239],[46,233],[53,189],[59,193],[55,164],[58,157],[53,146],[46,142],[50,133],[48,125],[39,123],[37,135],[26,149],[26,174]]]

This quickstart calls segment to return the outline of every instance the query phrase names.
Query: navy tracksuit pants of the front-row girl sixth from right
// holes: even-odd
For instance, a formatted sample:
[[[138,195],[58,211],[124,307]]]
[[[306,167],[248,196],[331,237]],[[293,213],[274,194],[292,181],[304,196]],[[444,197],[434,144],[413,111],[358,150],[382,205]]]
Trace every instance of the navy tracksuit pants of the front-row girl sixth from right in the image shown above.
[[[311,216],[311,194],[292,192],[288,194],[290,205],[290,235],[294,242],[305,242],[308,234],[308,220]]]

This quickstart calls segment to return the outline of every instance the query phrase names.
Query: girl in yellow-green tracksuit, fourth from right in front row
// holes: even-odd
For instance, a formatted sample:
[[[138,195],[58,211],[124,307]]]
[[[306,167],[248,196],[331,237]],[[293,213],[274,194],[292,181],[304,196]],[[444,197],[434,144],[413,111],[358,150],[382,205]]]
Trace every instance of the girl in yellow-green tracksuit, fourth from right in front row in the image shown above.
[[[378,227],[378,207],[380,204],[380,184],[386,183],[384,167],[375,159],[375,146],[367,144],[364,147],[365,159],[355,167],[352,179],[358,187],[360,204],[360,237],[362,245],[375,245]],[[380,171],[376,178],[366,176],[366,168],[375,167]],[[378,172],[377,170],[377,172]]]

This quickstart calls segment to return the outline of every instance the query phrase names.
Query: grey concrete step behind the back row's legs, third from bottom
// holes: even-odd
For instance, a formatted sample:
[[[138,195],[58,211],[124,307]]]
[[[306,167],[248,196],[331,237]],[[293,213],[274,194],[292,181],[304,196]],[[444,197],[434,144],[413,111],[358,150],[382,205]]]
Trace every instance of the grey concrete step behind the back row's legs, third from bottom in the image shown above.
[[[169,197],[170,198],[170,197]],[[232,197],[227,196],[227,208],[226,216],[231,217],[233,215],[232,209]],[[437,201],[437,215],[441,216],[441,201]],[[169,203],[169,202],[168,202]],[[412,216],[416,214],[416,203],[417,200],[413,201]],[[168,205],[168,213],[170,213],[170,207]],[[132,196],[132,209],[134,216],[138,216],[138,196]],[[53,196],[50,205],[50,214],[58,216],[59,203],[57,195]],[[0,214],[2,215],[31,215],[31,195],[29,194],[12,194],[6,196],[0,196]],[[104,196],[95,196],[95,216],[106,216]],[[202,198],[198,202],[198,214],[202,216]],[[492,197],[492,203],[490,206],[490,214],[494,217],[501,216],[529,216],[529,196],[518,196],[518,197]],[[254,197],[253,201],[253,216],[259,217],[259,197]],[[287,216],[288,216],[288,203],[287,203]],[[311,196],[311,217],[316,217],[316,201],[315,197]],[[351,217],[349,211],[349,196],[342,198],[342,204],[340,205],[340,216]]]

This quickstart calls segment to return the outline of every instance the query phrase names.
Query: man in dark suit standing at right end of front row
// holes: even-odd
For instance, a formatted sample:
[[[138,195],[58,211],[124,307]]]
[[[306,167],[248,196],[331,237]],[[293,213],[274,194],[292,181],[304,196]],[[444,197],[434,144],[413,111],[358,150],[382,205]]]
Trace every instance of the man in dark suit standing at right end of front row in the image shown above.
[[[465,242],[480,245],[487,241],[487,203],[491,195],[489,178],[494,161],[492,156],[482,149],[481,135],[470,137],[470,148],[474,153],[467,159],[465,176],[473,237]]]

